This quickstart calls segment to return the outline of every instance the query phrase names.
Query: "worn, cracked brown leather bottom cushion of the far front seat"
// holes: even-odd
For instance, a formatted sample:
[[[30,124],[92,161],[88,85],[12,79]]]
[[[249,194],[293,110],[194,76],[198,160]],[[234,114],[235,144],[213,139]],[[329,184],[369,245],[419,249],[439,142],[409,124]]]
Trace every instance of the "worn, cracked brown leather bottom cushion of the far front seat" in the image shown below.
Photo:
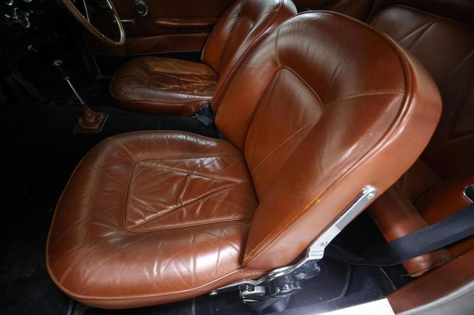
[[[120,107],[156,114],[192,115],[212,100],[218,75],[211,67],[159,57],[120,67],[110,93]]]

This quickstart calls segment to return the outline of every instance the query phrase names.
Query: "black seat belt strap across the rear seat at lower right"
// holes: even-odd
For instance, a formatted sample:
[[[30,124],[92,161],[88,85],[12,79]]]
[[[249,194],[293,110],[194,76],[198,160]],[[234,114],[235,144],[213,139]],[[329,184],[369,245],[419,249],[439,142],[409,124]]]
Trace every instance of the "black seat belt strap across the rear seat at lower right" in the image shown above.
[[[324,253],[353,265],[395,266],[474,234],[474,204],[424,229],[402,236],[382,246],[371,257],[360,257],[334,244]]]

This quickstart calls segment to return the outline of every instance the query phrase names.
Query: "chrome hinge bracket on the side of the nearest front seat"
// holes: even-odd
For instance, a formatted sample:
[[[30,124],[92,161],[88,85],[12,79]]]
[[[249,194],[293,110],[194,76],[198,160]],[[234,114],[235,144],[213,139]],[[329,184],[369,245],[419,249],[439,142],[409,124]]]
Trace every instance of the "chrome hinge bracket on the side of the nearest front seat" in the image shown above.
[[[366,186],[354,198],[354,200],[342,212],[342,215],[334,221],[319,237],[316,238],[308,247],[306,256],[297,264],[281,267],[271,271],[268,275],[259,280],[241,280],[221,288],[215,289],[209,293],[210,296],[215,296],[220,292],[232,291],[236,288],[241,288],[242,285],[266,286],[270,282],[279,277],[292,275],[297,280],[307,280],[313,278],[319,273],[317,262],[324,256],[324,249],[326,246],[354,219],[367,207],[367,205],[377,195],[377,188],[374,186]]]

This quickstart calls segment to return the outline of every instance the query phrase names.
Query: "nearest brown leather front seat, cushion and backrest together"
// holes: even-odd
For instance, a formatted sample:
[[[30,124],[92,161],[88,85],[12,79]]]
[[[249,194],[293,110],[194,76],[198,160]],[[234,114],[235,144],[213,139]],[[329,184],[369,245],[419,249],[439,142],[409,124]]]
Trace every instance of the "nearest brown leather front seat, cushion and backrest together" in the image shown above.
[[[100,308],[258,278],[298,259],[364,187],[390,187],[440,111],[430,75],[386,35],[299,14],[233,78],[216,117],[227,140],[135,132],[87,153],[54,214],[48,272]]]

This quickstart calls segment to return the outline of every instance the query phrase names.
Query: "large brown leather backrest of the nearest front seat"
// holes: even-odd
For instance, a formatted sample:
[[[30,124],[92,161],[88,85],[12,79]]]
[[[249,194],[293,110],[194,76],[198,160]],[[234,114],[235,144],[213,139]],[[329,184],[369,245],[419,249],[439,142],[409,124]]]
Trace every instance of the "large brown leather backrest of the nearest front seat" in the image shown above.
[[[440,105],[426,70],[370,26],[330,12],[282,24],[216,117],[244,150],[259,199],[246,268],[291,263],[364,186],[385,191],[425,147]]]

